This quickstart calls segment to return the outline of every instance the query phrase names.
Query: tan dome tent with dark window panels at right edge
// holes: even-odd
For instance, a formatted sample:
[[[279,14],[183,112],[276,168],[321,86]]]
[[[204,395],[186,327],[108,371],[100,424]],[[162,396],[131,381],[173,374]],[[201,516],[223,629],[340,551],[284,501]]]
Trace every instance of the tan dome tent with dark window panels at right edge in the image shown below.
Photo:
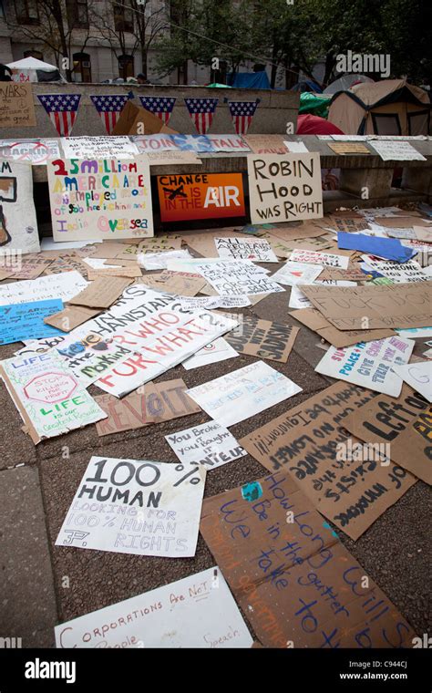
[[[334,94],[328,119],[346,135],[427,135],[430,108],[424,89],[383,79]]]

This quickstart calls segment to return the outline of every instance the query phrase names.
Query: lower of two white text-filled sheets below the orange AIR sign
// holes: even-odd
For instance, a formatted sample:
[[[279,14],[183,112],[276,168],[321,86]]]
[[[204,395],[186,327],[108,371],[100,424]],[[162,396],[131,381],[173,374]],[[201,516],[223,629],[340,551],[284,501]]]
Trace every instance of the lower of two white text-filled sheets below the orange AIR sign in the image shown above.
[[[220,295],[259,295],[283,291],[267,272],[250,260],[199,261],[193,265]]]

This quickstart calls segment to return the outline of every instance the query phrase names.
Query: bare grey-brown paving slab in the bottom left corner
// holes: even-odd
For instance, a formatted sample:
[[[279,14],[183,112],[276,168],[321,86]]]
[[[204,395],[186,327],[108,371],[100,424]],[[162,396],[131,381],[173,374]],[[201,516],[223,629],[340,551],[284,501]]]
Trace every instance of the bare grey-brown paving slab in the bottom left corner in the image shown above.
[[[0,471],[0,508],[1,635],[49,646],[57,604],[36,468]]]

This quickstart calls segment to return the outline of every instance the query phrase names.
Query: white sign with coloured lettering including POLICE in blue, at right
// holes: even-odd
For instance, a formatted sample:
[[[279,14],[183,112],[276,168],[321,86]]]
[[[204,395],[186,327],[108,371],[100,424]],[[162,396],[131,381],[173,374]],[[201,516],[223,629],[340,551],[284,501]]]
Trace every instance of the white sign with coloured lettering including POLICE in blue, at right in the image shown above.
[[[397,397],[402,388],[402,378],[394,367],[406,364],[413,348],[414,342],[401,336],[357,342],[353,347],[341,349],[330,347],[315,370],[324,376]]]

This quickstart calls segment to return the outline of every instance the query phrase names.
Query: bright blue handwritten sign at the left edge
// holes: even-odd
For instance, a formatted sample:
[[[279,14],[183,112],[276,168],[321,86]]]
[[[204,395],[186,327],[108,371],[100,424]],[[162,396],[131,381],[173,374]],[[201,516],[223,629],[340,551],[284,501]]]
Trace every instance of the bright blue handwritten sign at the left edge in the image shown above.
[[[55,327],[46,325],[44,317],[61,310],[62,301],[33,301],[25,304],[0,306],[0,345],[57,335]]]

